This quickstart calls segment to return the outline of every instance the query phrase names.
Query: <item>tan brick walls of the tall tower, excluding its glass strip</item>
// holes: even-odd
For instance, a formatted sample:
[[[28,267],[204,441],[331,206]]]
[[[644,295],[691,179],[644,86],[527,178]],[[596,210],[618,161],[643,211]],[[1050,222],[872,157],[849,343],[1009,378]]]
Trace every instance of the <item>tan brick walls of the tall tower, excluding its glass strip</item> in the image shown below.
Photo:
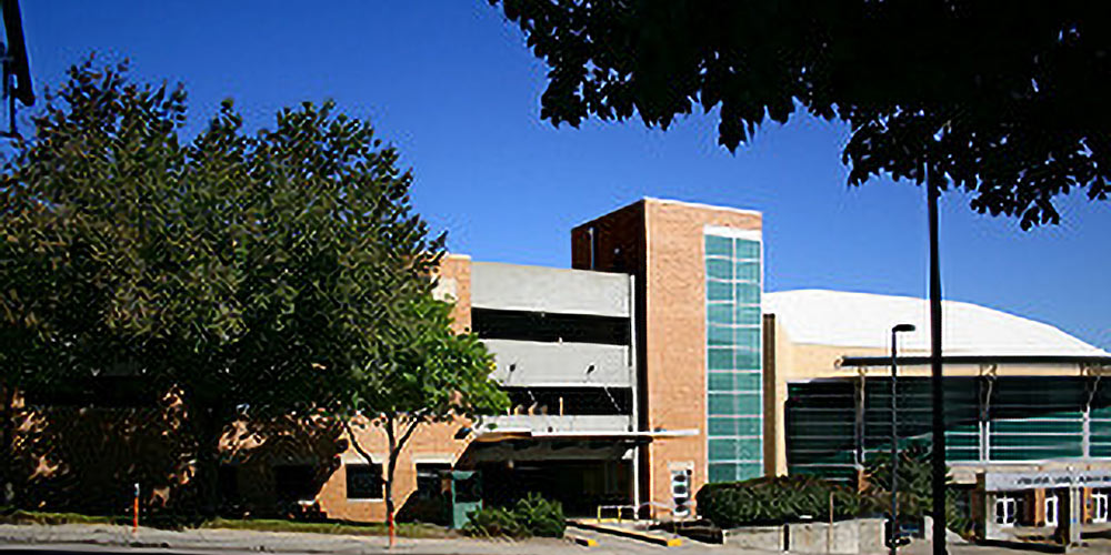
[[[695,430],[653,442],[642,464],[647,498],[671,503],[671,468],[690,464],[692,492],[707,480],[705,225],[760,230],[761,216],[713,206],[645,199],[572,231],[572,263],[637,279],[640,319],[641,425]]]

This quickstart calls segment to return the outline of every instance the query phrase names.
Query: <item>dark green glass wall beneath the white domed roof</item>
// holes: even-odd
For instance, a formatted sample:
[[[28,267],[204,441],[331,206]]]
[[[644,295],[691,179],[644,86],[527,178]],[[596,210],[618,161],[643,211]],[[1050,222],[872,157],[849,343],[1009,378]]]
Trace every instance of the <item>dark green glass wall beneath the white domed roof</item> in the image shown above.
[[[889,451],[889,380],[788,384],[789,471],[850,480]],[[950,463],[1111,458],[1111,384],[1101,379],[947,377],[944,407]],[[899,436],[903,445],[930,442],[929,379],[899,379]]]

